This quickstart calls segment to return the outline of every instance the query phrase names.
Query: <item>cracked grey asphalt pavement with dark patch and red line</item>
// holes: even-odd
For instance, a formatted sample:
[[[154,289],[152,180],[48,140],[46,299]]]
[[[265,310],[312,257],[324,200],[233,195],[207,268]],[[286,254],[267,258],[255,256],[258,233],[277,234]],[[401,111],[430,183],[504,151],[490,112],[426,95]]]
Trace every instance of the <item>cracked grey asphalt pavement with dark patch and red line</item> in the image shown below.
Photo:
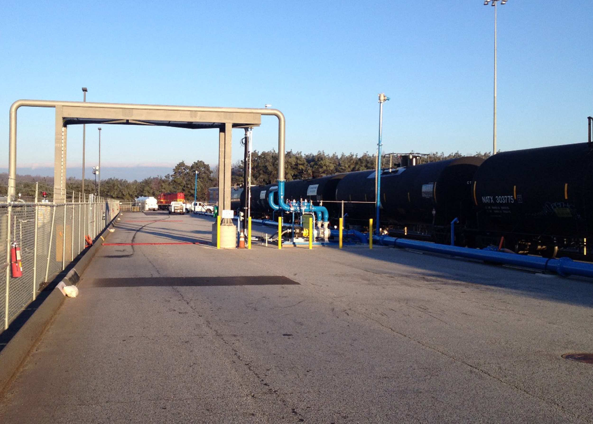
[[[216,250],[211,229],[123,214],[2,422],[593,422],[593,365],[561,356],[593,352],[592,281],[378,246]]]

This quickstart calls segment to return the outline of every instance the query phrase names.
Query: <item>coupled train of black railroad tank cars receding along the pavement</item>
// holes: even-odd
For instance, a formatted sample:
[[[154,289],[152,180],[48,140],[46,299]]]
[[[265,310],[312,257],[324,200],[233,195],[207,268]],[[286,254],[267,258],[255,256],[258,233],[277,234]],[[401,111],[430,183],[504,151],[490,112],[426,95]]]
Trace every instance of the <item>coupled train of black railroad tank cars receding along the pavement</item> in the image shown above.
[[[252,210],[272,214],[267,194],[276,184],[252,188]],[[286,201],[323,201],[330,220],[364,226],[375,216],[375,172],[358,171],[286,182]],[[593,149],[589,143],[501,152],[382,170],[381,224],[444,242],[452,220],[463,245],[504,246],[553,256],[559,249],[586,256],[593,239]],[[278,201],[276,196],[276,201]],[[405,233],[405,229],[404,232]],[[502,244],[504,243],[504,244]],[[590,249],[589,249],[590,250]]]

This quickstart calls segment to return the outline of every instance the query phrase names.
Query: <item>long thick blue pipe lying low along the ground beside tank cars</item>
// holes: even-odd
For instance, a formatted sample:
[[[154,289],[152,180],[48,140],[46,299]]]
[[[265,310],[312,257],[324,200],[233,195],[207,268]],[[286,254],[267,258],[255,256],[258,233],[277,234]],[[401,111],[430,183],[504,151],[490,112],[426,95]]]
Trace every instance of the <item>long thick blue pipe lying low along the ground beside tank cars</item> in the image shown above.
[[[419,242],[417,240],[400,239],[398,237],[375,236],[373,240],[384,246],[394,246],[404,249],[423,250],[425,252],[441,253],[442,255],[459,256],[461,258],[477,259],[503,265],[524,266],[538,271],[551,271],[562,277],[580,275],[593,277],[593,264],[573,261],[570,258],[546,259],[535,256],[517,255],[489,250],[461,248],[459,246],[437,245]]]

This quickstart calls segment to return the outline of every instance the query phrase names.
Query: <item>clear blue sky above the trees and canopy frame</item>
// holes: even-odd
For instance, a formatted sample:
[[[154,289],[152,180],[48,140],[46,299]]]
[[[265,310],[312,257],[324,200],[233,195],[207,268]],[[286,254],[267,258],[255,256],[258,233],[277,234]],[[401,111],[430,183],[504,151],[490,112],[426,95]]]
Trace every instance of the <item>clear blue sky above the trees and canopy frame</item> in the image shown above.
[[[586,141],[591,2],[498,6],[498,148]],[[374,153],[492,150],[494,8],[458,1],[6,1],[0,7],[0,168],[17,99],[263,107],[286,148]],[[52,110],[18,112],[18,166],[53,164]],[[262,117],[254,148],[277,148]],[[87,175],[98,126],[87,126]],[[104,166],[218,160],[211,130],[103,125]],[[233,160],[243,130],[233,133]],[[68,131],[68,165],[82,127]],[[108,175],[104,175],[107,177]],[[147,175],[148,176],[148,175]]]

